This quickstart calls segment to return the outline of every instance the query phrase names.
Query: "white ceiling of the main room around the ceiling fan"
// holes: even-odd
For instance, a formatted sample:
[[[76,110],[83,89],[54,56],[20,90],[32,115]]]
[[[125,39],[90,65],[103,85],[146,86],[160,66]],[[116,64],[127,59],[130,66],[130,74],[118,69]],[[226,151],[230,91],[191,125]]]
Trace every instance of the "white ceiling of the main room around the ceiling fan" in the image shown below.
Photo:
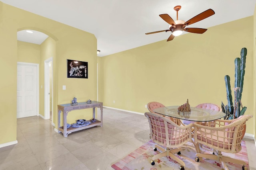
[[[254,14],[256,0],[0,0],[11,6],[93,33],[98,56],[103,57],[167,39],[170,32],[159,14],[176,20],[174,6],[181,5],[179,20],[211,8],[213,16],[187,27],[208,28]],[[238,25],[239,26],[239,25]],[[209,30],[208,30],[209,31]],[[34,34],[35,35],[35,34]],[[36,38],[36,35],[35,35]],[[174,43],[168,41],[166,43]]]

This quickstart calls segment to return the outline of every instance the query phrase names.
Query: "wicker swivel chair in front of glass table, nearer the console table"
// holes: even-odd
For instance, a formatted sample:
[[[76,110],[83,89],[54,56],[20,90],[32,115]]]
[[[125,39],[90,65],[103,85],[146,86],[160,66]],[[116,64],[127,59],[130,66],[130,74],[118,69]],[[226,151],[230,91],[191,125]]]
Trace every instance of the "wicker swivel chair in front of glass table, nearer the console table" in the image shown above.
[[[181,164],[180,170],[184,170],[185,163],[174,153],[181,150],[179,147],[188,141],[192,141],[191,132],[193,124],[191,123],[190,125],[179,126],[170,119],[151,112],[146,112],[145,116],[148,118],[150,137],[152,141],[156,143],[154,151],[157,149],[162,151],[161,153],[152,157],[151,164],[154,165],[154,160],[158,158],[170,156],[172,159]]]

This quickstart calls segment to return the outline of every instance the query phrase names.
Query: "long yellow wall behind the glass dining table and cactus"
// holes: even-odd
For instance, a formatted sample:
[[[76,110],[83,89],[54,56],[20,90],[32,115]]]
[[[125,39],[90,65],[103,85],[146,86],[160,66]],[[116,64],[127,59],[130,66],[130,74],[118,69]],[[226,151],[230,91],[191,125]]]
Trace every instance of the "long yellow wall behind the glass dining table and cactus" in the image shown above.
[[[220,106],[226,103],[224,76],[230,75],[234,86],[234,59],[243,47],[248,54],[242,104],[248,108],[246,114],[255,116],[252,16],[210,27],[202,35],[188,33],[98,57],[99,100],[104,106],[140,113],[152,101],[171,106],[188,99],[191,106],[204,102]],[[253,120],[248,121],[248,127],[253,125]],[[254,133],[252,128],[246,132]]]

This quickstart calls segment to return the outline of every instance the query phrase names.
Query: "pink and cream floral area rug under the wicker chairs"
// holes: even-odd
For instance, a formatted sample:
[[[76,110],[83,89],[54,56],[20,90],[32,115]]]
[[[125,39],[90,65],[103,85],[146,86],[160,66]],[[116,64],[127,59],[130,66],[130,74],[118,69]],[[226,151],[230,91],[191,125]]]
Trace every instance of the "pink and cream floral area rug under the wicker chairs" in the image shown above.
[[[231,158],[236,158],[240,160],[244,160],[247,165],[246,167],[249,170],[249,164],[248,164],[248,155],[246,150],[245,141],[242,141],[242,150],[239,153],[231,154],[231,153],[224,153],[223,155],[229,156]],[[155,143],[153,143],[151,140],[139,147],[138,149],[134,150],[132,153],[128,154],[115,164],[113,164],[111,167],[115,170],[179,170],[180,164],[170,158],[169,156],[162,157],[158,160],[155,160],[155,165],[151,165],[150,161],[151,158],[160,153],[158,150],[154,151],[153,148],[155,146]],[[201,148],[202,153],[210,153],[212,154],[212,151],[207,149],[206,146],[203,146]],[[202,161],[196,162],[195,156],[196,150],[192,143],[188,142],[186,145],[182,147],[181,154],[178,156],[180,159],[182,159],[185,163],[185,170],[222,170],[222,165],[220,162],[216,160],[209,160],[206,158],[203,158]],[[226,163],[229,170],[242,170],[242,165],[240,164],[233,164],[233,163]]]

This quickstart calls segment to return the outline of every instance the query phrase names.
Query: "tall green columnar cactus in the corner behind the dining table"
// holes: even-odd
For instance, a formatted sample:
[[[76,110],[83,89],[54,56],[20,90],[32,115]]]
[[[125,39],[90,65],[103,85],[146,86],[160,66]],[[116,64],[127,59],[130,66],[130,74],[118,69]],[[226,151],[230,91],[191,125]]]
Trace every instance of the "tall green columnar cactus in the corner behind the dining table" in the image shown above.
[[[240,115],[244,115],[247,107],[242,107],[241,98],[243,92],[243,85],[244,85],[244,73],[245,73],[245,62],[246,62],[246,55],[247,49],[241,49],[241,58],[235,59],[235,83],[234,83],[234,104],[232,102],[232,94],[230,88],[230,76],[226,75],[224,77],[225,84],[226,84],[226,92],[227,92],[227,101],[228,104],[226,107],[223,106],[222,103],[222,111],[226,111],[226,113],[230,113],[230,115],[226,116],[226,119],[235,119]],[[242,110],[241,110],[242,107]]]

